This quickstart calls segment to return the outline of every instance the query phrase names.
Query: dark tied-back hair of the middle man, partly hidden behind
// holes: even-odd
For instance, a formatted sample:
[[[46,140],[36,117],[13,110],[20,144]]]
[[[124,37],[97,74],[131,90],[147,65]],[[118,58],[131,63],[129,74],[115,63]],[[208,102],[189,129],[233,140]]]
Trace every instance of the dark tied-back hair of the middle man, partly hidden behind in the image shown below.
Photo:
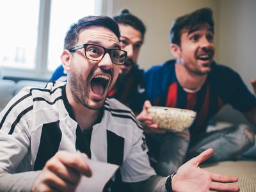
[[[143,22],[136,16],[132,15],[129,10],[122,10],[122,12],[119,15],[115,15],[113,19],[118,24],[124,24],[127,26],[131,26],[132,28],[140,31],[142,39],[144,39],[144,35],[146,32],[145,25]]]

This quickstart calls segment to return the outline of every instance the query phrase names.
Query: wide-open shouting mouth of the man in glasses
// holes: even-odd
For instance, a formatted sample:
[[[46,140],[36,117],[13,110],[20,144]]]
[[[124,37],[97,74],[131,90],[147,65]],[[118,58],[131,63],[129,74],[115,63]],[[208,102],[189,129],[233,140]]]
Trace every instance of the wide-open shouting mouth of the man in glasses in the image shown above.
[[[106,75],[97,75],[93,77],[91,81],[92,92],[97,95],[103,95],[106,92],[108,87],[109,76]]]

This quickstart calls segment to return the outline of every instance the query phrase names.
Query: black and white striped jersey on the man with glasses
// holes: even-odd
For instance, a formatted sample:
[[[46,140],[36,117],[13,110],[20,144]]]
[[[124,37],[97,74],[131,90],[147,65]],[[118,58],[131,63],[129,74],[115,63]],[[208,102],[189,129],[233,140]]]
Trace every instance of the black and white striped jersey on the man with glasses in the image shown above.
[[[156,173],[150,167],[141,125],[131,110],[106,99],[102,119],[84,140],[68,104],[65,83],[26,87],[0,113],[0,171],[42,170],[58,150],[86,152],[97,161],[120,165],[124,182],[139,182]]]

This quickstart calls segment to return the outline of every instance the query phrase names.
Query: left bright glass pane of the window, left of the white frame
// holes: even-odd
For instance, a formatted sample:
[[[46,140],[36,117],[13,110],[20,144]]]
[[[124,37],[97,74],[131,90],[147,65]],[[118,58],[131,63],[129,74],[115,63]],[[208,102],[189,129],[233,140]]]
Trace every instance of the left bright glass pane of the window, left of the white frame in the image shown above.
[[[8,0],[0,6],[0,66],[35,68],[39,1]],[[13,6],[15,5],[15,6]]]

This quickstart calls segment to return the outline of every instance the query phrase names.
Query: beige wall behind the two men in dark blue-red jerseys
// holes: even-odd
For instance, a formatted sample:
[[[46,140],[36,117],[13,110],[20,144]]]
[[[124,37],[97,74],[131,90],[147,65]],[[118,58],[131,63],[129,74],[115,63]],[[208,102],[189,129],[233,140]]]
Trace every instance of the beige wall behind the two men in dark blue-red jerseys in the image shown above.
[[[111,12],[107,12],[109,16],[127,8],[143,20],[147,27],[145,44],[138,61],[141,68],[147,69],[173,58],[169,51],[168,37],[172,20],[207,6],[214,12],[216,25],[215,60],[237,70],[248,87],[250,87],[250,79],[256,78],[255,0],[108,1],[111,2]]]

